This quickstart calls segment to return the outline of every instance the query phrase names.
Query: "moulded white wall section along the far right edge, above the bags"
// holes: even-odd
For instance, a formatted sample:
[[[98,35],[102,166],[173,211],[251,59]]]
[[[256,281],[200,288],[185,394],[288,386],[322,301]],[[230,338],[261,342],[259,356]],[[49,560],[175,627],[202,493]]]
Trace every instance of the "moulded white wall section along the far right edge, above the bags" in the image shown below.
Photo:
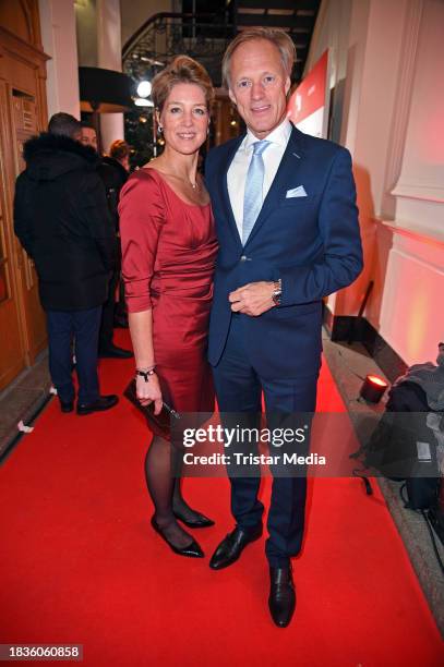
[[[395,121],[405,116],[405,142],[392,190],[380,331],[413,363],[434,360],[444,338],[444,2],[416,0],[409,11],[403,45],[407,75],[393,110]],[[387,217],[380,216],[379,237]]]

